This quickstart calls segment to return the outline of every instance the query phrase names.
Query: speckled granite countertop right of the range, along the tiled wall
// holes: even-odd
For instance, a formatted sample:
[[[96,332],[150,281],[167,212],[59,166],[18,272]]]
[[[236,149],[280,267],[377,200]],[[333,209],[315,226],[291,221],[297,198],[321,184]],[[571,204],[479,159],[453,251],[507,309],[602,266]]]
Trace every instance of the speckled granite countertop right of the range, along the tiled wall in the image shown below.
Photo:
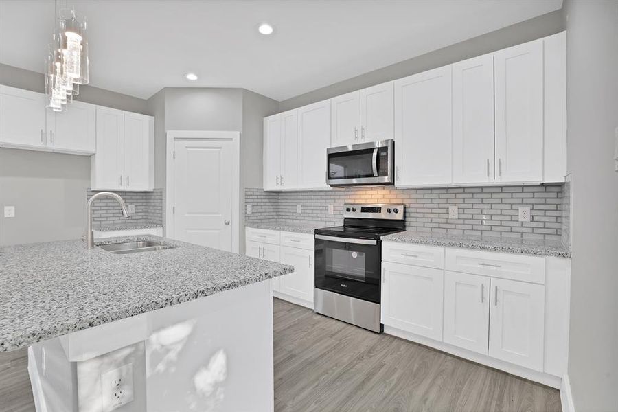
[[[498,236],[469,236],[448,233],[403,231],[382,236],[385,242],[407,242],[444,247],[462,247],[483,251],[523,253],[526,255],[571,258],[571,251],[560,240],[501,238]]]

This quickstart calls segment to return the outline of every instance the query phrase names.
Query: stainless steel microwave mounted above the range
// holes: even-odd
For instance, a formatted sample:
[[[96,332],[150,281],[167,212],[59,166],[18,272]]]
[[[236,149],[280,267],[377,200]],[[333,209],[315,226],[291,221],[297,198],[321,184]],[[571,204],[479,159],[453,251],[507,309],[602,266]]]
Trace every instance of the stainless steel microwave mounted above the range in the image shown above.
[[[339,146],[326,150],[326,183],[331,186],[395,183],[395,142],[392,139]]]

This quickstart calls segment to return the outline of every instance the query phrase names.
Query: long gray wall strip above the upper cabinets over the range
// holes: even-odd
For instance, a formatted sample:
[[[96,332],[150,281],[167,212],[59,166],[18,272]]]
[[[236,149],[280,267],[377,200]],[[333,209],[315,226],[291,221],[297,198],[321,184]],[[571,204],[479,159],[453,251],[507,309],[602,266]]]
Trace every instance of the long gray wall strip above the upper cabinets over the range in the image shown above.
[[[501,30],[496,30],[482,36],[474,37],[455,45],[450,45],[442,49],[436,50],[417,56],[409,60],[398,62],[394,65],[383,67],[375,71],[370,71],[361,76],[344,80],[343,82],[331,84],[303,95],[283,100],[279,104],[279,111],[286,111],[292,108],[297,108],[332,98],[336,95],[348,93],[365,87],[380,84],[389,80],[395,80],[405,76],[410,76],[415,73],[420,73],[429,69],[435,69],[450,63],[466,60],[481,54],[495,52],[505,47],[518,45],[536,38],[556,34],[564,30],[564,21],[562,19],[562,10],[551,12],[538,16],[535,19],[530,19],[517,23]]]

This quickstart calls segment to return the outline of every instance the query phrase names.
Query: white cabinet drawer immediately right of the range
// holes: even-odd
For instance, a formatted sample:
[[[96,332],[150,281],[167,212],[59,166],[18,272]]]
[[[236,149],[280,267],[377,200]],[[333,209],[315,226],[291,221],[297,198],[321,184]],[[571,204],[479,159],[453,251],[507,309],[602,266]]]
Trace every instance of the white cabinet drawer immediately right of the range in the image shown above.
[[[442,269],[444,248],[413,243],[382,242],[382,260]]]

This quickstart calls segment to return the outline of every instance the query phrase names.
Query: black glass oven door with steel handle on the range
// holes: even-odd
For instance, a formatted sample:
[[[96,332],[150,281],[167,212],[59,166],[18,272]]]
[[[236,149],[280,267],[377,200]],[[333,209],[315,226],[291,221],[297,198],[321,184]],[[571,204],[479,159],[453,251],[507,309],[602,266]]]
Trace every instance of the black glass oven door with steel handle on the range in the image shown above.
[[[315,236],[315,287],[380,303],[379,240]]]

